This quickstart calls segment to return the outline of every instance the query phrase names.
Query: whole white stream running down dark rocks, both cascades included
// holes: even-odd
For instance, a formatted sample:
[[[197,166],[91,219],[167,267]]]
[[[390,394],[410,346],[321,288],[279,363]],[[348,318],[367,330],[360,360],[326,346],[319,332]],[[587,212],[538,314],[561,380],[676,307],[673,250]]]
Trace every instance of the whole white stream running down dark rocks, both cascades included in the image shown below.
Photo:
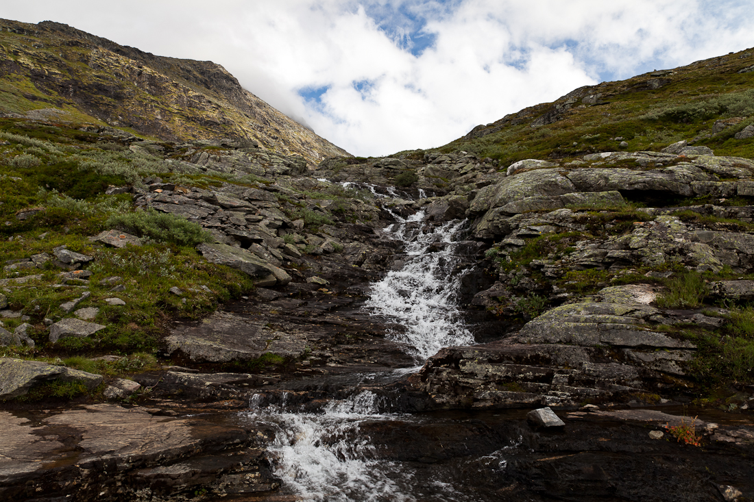
[[[358,384],[347,390],[345,397],[329,399],[314,410],[311,403],[306,407],[289,404],[286,393],[274,398],[253,396],[247,418],[275,430],[269,448],[274,473],[283,480],[284,491],[296,497],[292,500],[482,500],[478,494],[469,497],[457,491],[451,480],[458,466],[450,470],[449,465],[428,469],[434,463],[432,452],[421,452],[427,448],[426,442],[437,441],[436,433],[443,428],[454,431],[441,435],[456,434],[455,421],[391,412],[389,396],[363,390],[369,381],[390,381],[418,371],[428,357],[443,347],[474,343],[457,298],[464,271],[457,269],[456,239],[465,222],[433,227],[423,222],[425,213],[421,211],[405,219],[392,214],[396,221],[383,232],[403,243],[405,256],[402,263],[398,262],[394,270],[372,285],[363,308],[372,316],[400,326],[389,331],[387,337],[402,344],[416,366],[359,375]],[[485,429],[480,424],[475,427]],[[406,434],[412,437],[403,437],[405,448],[395,450],[400,444],[395,440]],[[462,432],[460,438],[464,439]],[[412,441],[421,446],[409,445]],[[503,442],[508,443],[507,439]],[[417,451],[409,453],[406,448]],[[406,453],[416,460],[406,461]],[[485,458],[474,459],[478,461],[495,464],[494,468],[505,464],[501,451],[489,451]]]

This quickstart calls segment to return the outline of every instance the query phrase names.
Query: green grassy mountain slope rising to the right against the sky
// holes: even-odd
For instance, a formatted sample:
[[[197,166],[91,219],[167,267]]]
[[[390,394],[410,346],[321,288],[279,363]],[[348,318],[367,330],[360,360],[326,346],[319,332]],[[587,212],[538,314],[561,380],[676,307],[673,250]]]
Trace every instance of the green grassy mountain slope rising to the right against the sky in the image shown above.
[[[754,50],[580,87],[474,127],[440,148],[497,159],[572,158],[596,152],[653,150],[681,139],[719,155],[754,156],[734,136],[754,124]],[[626,144],[621,146],[621,141]]]

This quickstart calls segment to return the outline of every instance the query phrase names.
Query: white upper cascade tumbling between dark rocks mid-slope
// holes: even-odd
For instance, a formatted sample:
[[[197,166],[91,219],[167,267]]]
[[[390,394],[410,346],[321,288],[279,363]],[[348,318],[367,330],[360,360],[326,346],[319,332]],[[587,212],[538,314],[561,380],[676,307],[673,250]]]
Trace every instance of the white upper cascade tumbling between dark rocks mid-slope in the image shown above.
[[[404,326],[404,332],[393,332],[389,337],[407,344],[418,359],[426,360],[443,347],[473,344],[474,336],[461,321],[455,295],[462,274],[452,274],[458,264],[458,245],[453,237],[464,222],[412,231],[415,225],[410,224],[421,222],[423,212],[408,219],[393,216],[398,223],[385,231],[406,243],[408,257],[400,271],[388,272],[372,286],[365,307]]]

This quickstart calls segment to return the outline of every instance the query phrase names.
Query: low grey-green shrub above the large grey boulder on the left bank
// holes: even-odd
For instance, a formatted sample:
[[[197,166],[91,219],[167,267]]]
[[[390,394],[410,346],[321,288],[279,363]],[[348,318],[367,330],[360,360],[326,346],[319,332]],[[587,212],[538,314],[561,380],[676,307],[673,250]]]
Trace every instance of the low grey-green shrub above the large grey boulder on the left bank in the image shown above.
[[[201,228],[198,223],[152,209],[110,216],[106,225],[109,228],[123,228],[139,237],[172,242],[179,246],[196,246],[199,243],[213,241],[212,234]]]

